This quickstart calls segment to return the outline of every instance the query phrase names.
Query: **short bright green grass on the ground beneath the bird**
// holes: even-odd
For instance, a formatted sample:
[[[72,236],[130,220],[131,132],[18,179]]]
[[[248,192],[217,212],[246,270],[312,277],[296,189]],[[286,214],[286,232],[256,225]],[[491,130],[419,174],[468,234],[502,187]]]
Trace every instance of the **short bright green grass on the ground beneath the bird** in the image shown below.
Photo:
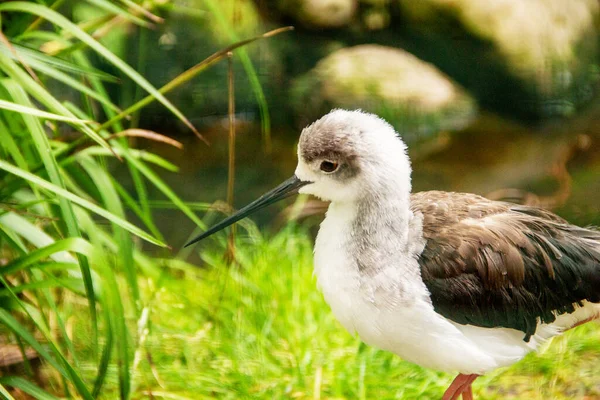
[[[452,380],[365,346],[343,329],[316,288],[304,229],[238,239],[239,265],[226,265],[224,253],[222,235],[200,248],[207,268],[165,259],[162,279],[140,282],[151,300],[132,398],[439,399]],[[135,325],[129,321],[130,330]],[[476,397],[597,398],[599,328],[579,327],[479,378]],[[86,332],[78,336],[86,343]],[[116,367],[109,371],[105,399],[117,388]]]

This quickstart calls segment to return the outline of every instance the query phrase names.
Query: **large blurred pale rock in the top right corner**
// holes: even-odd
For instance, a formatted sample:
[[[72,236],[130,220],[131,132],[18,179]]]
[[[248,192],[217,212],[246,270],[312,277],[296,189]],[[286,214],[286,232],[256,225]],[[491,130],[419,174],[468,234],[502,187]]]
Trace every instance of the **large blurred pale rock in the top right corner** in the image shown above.
[[[467,35],[516,78],[516,105],[534,116],[568,116],[591,97],[597,72],[597,0],[398,0],[403,19],[431,37]],[[462,31],[462,32],[460,32]],[[477,66],[479,67],[479,66]],[[516,94],[515,93],[515,94]]]

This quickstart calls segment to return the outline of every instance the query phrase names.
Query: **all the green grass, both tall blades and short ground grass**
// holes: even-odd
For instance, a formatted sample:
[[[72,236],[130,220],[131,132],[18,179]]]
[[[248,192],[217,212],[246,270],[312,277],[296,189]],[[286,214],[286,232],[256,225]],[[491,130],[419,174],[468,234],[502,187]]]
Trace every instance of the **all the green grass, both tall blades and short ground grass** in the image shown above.
[[[224,235],[196,248],[202,268],[185,261],[187,250],[142,247],[165,246],[155,224],[160,204],[198,226],[194,210],[207,205],[185,202],[156,172],[177,166],[131,148],[135,116],[158,101],[195,131],[168,92],[228,51],[283,30],[232,44],[157,89],[95,35],[115,21],[129,29],[159,23],[140,12],[142,2],[90,1],[95,14],[77,24],[61,13],[68,3],[81,4],[0,1],[0,346],[34,349],[41,359],[0,377],[0,396],[20,389],[37,399],[439,398],[451,376],[361,345],[335,321],[312,278],[305,228],[264,239],[242,221],[250,234],[238,237],[233,266],[223,261]],[[153,11],[152,1],[143,4]],[[93,57],[119,76],[95,69]],[[119,80],[137,85],[139,96],[114,104],[107,85]],[[110,173],[117,158],[133,193]],[[162,197],[150,199],[153,192]],[[580,327],[479,379],[475,392],[599,397],[598,333],[595,324]]]

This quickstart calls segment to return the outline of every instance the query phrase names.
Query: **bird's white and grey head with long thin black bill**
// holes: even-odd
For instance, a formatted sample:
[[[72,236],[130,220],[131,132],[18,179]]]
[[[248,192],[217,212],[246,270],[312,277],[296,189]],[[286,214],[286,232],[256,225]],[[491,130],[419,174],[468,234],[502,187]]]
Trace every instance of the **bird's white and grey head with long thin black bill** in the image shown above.
[[[357,202],[398,188],[410,193],[410,162],[394,128],[373,114],[333,110],[302,131],[298,166],[291,178],[186,246],[298,192],[326,201]]]

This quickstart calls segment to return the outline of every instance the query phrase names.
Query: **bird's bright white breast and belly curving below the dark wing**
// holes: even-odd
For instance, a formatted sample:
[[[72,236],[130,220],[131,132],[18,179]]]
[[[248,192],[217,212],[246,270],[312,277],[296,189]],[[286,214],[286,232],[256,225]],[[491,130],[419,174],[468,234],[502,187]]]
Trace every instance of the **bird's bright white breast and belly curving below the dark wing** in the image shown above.
[[[348,249],[353,213],[350,207],[330,206],[315,243],[315,275],[336,318],[367,344],[424,367],[483,374],[519,361],[571,320],[581,319],[580,315],[559,317],[555,324],[540,326],[526,343],[517,330],[459,325],[440,316],[420,276],[421,286],[411,285],[412,301],[398,300],[390,296],[390,286],[394,280],[410,280],[403,275],[407,268],[402,263],[416,260],[398,255],[398,264],[385,266],[375,276],[361,276]]]

